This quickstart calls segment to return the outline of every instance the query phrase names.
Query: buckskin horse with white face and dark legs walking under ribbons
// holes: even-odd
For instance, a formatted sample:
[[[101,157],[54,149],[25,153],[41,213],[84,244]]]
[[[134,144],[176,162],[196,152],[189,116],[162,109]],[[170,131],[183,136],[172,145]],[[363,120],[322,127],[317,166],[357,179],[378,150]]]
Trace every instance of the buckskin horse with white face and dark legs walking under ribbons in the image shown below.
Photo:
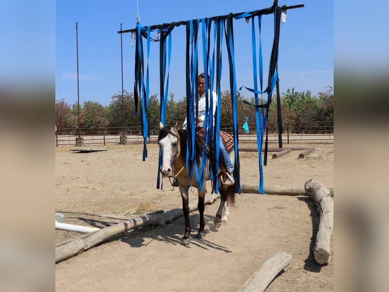
[[[198,210],[200,212],[200,228],[197,232],[196,237],[199,239],[203,239],[205,237],[205,220],[204,220],[204,198],[206,193],[206,184],[207,180],[210,180],[211,174],[211,161],[209,159],[209,155],[207,154],[205,161],[205,169],[204,169],[204,184],[203,188],[200,189],[200,184],[196,178],[195,173],[195,165],[193,163],[193,176],[192,180],[188,176],[188,172],[186,169],[186,144],[187,144],[187,132],[182,129],[178,123],[176,123],[175,127],[164,126],[162,123],[159,124],[160,131],[158,135],[158,145],[161,150],[162,163],[160,167],[160,172],[164,177],[175,178],[178,181],[178,187],[181,193],[182,198],[182,211],[184,213],[185,218],[185,229],[184,236],[182,238],[181,244],[187,246],[190,244],[190,223],[189,223],[189,194],[188,190],[190,186],[193,186],[198,189]],[[196,135],[195,139],[195,147],[196,147],[196,161],[197,165],[200,168],[202,162],[202,153],[204,148],[204,140]],[[229,154],[232,160],[232,163],[235,162],[235,153],[234,150]],[[220,169],[218,175],[220,176]],[[199,169],[200,173],[200,169]],[[220,227],[221,223],[226,223],[227,218],[230,214],[228,210],[228,205],[234,206],[235,204],[235,185],[232,186],[224,186],[222,180],[218,180],[218,189],[220,192],[220,206],[217,210],[215,220],[214,220],[214,228],[217,229]]]

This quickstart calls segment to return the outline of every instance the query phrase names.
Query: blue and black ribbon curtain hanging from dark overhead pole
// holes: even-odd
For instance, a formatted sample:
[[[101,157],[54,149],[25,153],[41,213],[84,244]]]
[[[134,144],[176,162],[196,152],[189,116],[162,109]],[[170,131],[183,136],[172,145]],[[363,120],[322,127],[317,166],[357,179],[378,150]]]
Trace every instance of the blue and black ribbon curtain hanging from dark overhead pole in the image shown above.
[[[230,92],[232,101],[232,112],[233,112],[233,136],[234,136],[234,150],[235,150],[235,170],[234,176],[236,178],[236,192],[240,193],[240,169],[239,169],[239,152],[238,152],[238,123],[237,123],[237,84],[236,84],[236,73],[235,73],[235,51],[234,51],[234,30],[233,30],[233,19],[246,18],[252,19],[252,50],[253,50],[253,72],[254,72],[254,88],[250,89],[245,86],[248,91],[254,93],[255,98],[255,118],[256,118],[256,131],[257,131],[257,144],[258,144],[258,155],[260,157],[260,193],[263,191],[263,169],[262,169],[262,144],[265,133],[265,125],[268,116],[269,106],[272,101],[272,93],[274,87],[277,89],[277,113],[278,113],[278,131],[279,131],[279,147],[282,148],[282,120],[281,120],[281,108],[280,108],[280,96],[279,96],[279,82],[278,82],[278,44],[279,44],[279,31],[280,31],[280,19],[281,10],[294,9],[304,7],[304,5],[295,6],[278,6],[278,1],[274,1],[274,5],[270,8],[262,10],[254,10],[249,12],[229,14],[224,16],[217,16],[211,18],[202,18],[195,20],[187,20],[180,22],[172,22],[170,24],[154,25],[150,27],[143,27],[137,23],[136,30],[120,31],[118,33],[136,32],[136,52],[135,52],[135,84],[134,84],[134,99],[135,99],[135,114],[138,113],[138,98],[141,98],[141,124],[142,133],[144,138],[144,149],[143,149],[143,160],[147,157],[146,139],[149,133],[148,125],[148,98],[149,98],[149,48],[151,41],[159,41],[160,47],[160,60],[159,60],[159,73],[160,73],[160,121],[165,124],[166,104],[168,100],[168,89],[169,89],[169,69],[171,59],[171,32],[175,26],[186,25],[186,106],[187,106],[187,156],[186,156],[186,167],[190,177],[192,178],[193,166],[195,167],[195,175],[197,180],[200,182],[201,188],[203,187],[204,181],[204,163],[206,150],[201,154],[202,164],[196,164],[196,148],[195,148],[195,135],[196,135],[196,120],[195,116],[198,115],[198,102],[199,102],[199,89],[198,89],[198,34],[199,30],[202,32],[203,37],[203,63],[204,72],[210,77],[210,85],[206,82],[206,120],[205,133],[206,145],[208,149],[213,148],[211,151],[211,179],[215,183],[217,192],[217,176],[215,173],[218,172],[219,162],[219,137],[220,131],[220,100],[221,100],[221,69],[222,69],[222,41],[223,31],[225,34],[225,44],[228,51],[229,58],[229,75],[230,75]],[[269,65],[268,75],[268,86],[263,90],[263,56],[262,56],[262,41],[261,41],[261,16],[266,14],[274,14],[274,40],[272,53]],[[257,67],[256,67],[256,32],[254,25],[254,17],[258,19],[258,34],[259,34],[259,75],[260,75],[260,90],[257,86]],[[200,27],[200,22],[202,25]],[[211,28],[213,27],[213,42],[211,39]],[[157,31],[158,37],[153,39],[150,36],[151,32]],[[145,65],[144,65],[144,54],[143,54],[143,42],[142,37],[147,39],[147,65],[146,65],[146,78],[144,76]],[[213,49],[211,45],[213,44]],[[215,76],[216,75],[216,76]],[[212,104],[213,104],[213,84],[216,86],[217,95],[217,106],[215,110],[215,116],[213,117]],[[209,96],[211,93],[211,96]],[[263,95],[267,94],[267,101],[264,103]],[[261,99],[258,96],[261,95]],[[261,101],[261,103],[260,103]],[[209,102],[211,104],[209,104]],[[210,108],[209,108],[210,107]],[[214,123],[213,123],[214,119]],[[214,125],[214,126],[213,126]],[[265,156],[264,165],[267,163],[267,148],[268,148],[268,136],[266,133],[265,143]],[[157,188],[159,188],[160,177],[159,167],[161,164],[161,153],[159,153],[159,165],[158,165],[158,179]],[[200,171],[199,171],[200,169]]]

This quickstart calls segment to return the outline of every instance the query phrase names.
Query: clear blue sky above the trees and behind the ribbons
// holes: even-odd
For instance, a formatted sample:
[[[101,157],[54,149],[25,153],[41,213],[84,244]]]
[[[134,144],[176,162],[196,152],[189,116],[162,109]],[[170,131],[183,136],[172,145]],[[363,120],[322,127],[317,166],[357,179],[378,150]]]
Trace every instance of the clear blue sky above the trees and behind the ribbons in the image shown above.
[[[245,12],[270,7],[273,1],[203,1],[191,7],[182,0],[138,0],[142,25],[153,25]],[[313,95],[333,86],[334,29],[332,1],[279,1],[279,5],[305,4],[304,8],[288,10],[286,23],[281,23],[279,44],[280,91],[295,87],[310,90]],[[111,96],[121,93],[120,30],[136,27],[137,1],[58,0],[56,2],[55,94],[56,100],[77,102],[76,21],[78,22],[80,103],[96,101],[108,105]],[[269,67],[273,37],[273,16],[263,16],[262,44],[264,70]],[[251,24],[244,19],[234,21],[237,86],[252,87]],[[133,92],[135,48],[131,34],[123,34],[123,87]],[[184,27],[172,33],[173,52],[169,91],[175,99],[185,96],[185,34]],[[151,44],[150,94],[158,94],[158,43]],[[200,64],[199,72],[202,72]],[[222,91],[229,90],[228,57],[224,53]],[[266,84],[267,77],[264,77]],[[252,96],[242,90],[244,97]]]

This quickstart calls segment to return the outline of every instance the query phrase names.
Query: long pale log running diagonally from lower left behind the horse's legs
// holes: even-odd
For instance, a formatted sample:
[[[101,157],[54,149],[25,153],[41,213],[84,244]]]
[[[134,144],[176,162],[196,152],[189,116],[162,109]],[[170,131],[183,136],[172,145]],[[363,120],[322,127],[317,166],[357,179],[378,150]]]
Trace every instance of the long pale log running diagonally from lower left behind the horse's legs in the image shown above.
[[[204,203],[209,205],[218,198],[220,198],[220,194],[206,194]],[[197,210],[197,200],[189,203],[189,212],[195,210]],[[173,209],[163,214],[144,215],[88,233],[68,242],[59,243],[55,246],[55,264],[132,229],[153,224],[163,225],[182,215],[182,209]]]

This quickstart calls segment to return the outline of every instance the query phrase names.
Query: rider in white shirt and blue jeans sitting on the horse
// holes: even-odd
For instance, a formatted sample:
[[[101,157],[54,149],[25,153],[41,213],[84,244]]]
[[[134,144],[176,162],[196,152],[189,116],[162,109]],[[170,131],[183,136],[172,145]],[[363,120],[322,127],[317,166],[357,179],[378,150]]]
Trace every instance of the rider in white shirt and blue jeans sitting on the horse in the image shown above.
[[[208,88],[210,86],[210,78],[208,76]],[[206,95],[205,95],[205,74],[202,73],[199,75],[199,112],[197,116],[197,126],[198,127],[204,127],[204,120],[206,119],[205,116],[205,109],[206,109]],[[208,90],[208,105],[210,105],[210,92]],[[213,116],[215,116],[215,110],[216,110],[216,104],[217,104],[217,97],[216,93],[212,91],[212,98],[213,98]],[[196,114],[196,113],[195,113]],[[213,120],[215,121],[215,120]],[[184,123],[182,124],[182,128],[186,130],[186,118]],[[221,151],[221,159],[224,164],[225,170],[226,170],[226,177],[223,182],[224,186],[232,186],[235,184],[234,176],[232,172],[234,171],[234,165],[232,164],[232,161],[225,150],[224,143],[219,135],[219,147]]]

